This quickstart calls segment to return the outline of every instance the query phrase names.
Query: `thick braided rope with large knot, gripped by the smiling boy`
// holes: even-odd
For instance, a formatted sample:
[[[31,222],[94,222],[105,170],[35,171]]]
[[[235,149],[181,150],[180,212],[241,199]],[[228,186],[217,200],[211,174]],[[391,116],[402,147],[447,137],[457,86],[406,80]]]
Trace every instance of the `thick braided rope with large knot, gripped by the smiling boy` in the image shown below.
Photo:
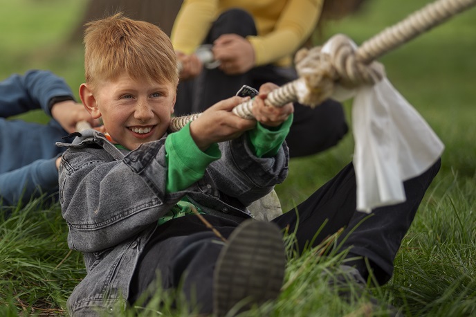
[[[338,45],[331,49],[330,57],[321,54],[320,47],[297,52],[295,62],[300,78],[269,93],[265,102],[282,107],[299,101],[314,107],[331,96],[335,82],[345,87],[374,84],[384,76],[383,66],[374,60],[475,4],[476,0],[437,0],[395,26],[385,28],[358,48],[352,47],[345,36],[338,35]],[[253,118],[252,108],[253,101],[249,100],[237,105],[233,113],[241,118]],[[198,116],[172,118],[170,132],[178,131]]]

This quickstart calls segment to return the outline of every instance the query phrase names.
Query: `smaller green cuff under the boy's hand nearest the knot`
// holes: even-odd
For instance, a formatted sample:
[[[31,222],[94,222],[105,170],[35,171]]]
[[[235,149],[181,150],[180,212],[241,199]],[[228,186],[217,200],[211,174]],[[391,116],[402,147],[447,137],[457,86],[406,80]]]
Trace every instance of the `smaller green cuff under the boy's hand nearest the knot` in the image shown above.
[[[284,123],[282,123],[282,125],[277,128],[266,128],[258,123],[255,129],[250,130],[248,132],[248,137],[256,156],[275,156],[289,133],[291,123],[293,123],[292,114],[286,121],[284,121]]]

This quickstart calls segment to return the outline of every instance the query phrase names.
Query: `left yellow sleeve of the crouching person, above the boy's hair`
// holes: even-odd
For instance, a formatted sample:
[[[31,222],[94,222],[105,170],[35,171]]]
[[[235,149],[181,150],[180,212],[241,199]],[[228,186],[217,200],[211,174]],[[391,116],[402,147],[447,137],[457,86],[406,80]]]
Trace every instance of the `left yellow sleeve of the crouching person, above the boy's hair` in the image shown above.
[[[217,17],[219,0],[185,0],[172,27],[170,39],[176,51],[193,53]]]

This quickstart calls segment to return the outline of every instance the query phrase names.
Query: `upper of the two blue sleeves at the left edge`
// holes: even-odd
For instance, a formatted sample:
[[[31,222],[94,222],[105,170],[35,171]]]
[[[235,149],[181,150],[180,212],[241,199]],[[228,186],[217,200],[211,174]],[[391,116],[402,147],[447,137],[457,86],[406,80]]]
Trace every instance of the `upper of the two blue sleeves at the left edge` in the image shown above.
[[[32,70],[24,75],[11,75],[0,82],[0,117],[8,118],[33,109],[43,109],[51,116],[53,98],[74,100],[66,82],[50,71]]]

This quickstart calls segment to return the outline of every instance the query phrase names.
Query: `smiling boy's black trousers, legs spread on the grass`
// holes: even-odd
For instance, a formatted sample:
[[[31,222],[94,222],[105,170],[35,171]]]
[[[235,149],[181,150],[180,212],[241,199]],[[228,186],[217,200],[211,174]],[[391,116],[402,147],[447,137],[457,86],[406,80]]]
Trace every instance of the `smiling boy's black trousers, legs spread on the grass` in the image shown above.
[[[351,264],[367,278],[367,259],[379,284],[390,280],[394,259],[404,235],[412,224],[421,199],[437,174],[441,161],[426,172],[404,182],[406,200],[374,209],[370,214],[356,211],[356,177],[350,163],[331,181],[314,192],[296,210],[273,220],[282,230],[295,232],[295,251],[302,253],[313,241],[324,239],[344,228],[336,246],[347,253]],[[239,225],[235,221],[206,216],[221,235],[228,237]],[[322,228],[321,228],[322,227]],[[163,289],[181,287],[185,298],[197,302],[201,312],[212,311],[212,281],[215,262],[223,243],[198,217],[173,219],[157,228],[131,282],[129,301],[134,302],[160,272]]]

